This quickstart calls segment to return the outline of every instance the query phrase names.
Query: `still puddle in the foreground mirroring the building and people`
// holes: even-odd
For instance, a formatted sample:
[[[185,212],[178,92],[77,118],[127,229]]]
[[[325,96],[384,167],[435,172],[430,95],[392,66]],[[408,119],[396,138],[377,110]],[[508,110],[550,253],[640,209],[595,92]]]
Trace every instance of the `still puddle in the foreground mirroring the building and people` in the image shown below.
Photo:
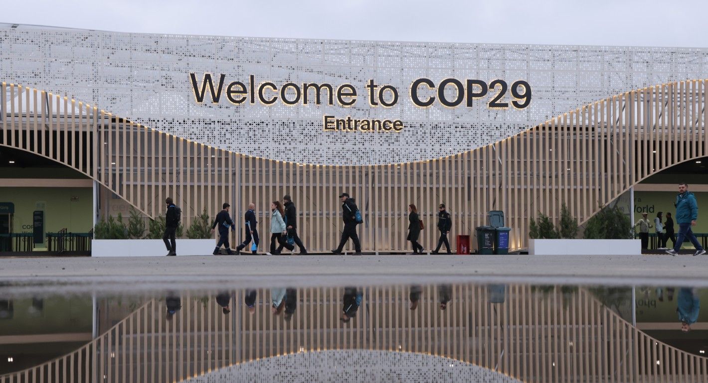
[[[6,297],[0,382],[705,382],[704,293],[442,284]]]

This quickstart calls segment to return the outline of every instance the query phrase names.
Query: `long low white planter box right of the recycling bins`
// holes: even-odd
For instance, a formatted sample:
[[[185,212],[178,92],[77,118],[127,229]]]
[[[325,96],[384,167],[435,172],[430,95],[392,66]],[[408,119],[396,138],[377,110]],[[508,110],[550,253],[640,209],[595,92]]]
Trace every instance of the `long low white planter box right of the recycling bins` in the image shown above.
[[[641,240],[529,240],[530,255],[641,255]]]

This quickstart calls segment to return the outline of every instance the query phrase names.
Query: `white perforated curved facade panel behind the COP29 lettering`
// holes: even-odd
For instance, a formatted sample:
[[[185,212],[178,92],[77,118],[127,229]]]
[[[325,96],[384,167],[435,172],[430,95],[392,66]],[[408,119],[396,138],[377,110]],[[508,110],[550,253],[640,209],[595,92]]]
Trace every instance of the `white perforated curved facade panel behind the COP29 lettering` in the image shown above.
[[[349,83],[352,107],[195,102],[190,72],[258,83]],[[488,45],[148,35],[0,26],[0,81],[98,105],[145,126],[246,155],[321,165],[404,163],[462,153],[588,102],[670,81],[708,77],[708,49]],[[525,80],[523,110],[413,105],[416,78]],[[365,84],[399,102],[369,105]],[[509,93],[506,101],[510,101]],[[400,119],[400,133],[323,131],[325,114]]]

